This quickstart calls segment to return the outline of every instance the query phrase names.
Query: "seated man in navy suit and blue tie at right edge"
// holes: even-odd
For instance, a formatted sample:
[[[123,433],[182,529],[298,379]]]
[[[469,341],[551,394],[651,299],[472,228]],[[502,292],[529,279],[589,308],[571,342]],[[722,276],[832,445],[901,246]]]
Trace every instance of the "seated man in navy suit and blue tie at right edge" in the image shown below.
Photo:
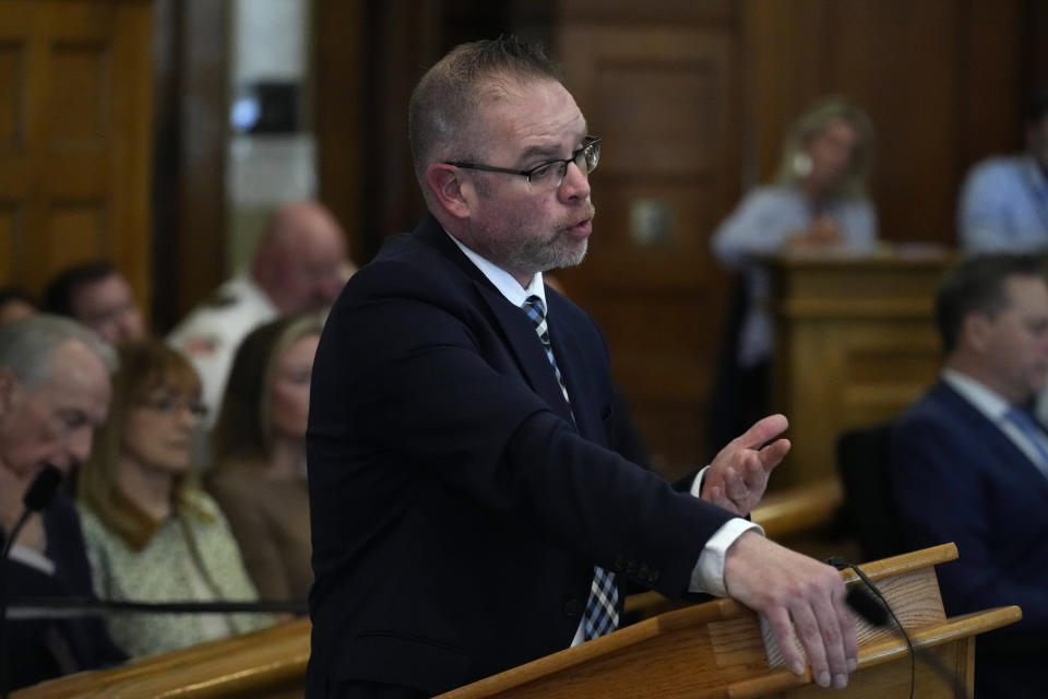
[[[1027,410],[1048,376],[1043,262],[967,260],[940,286],[936,319],[945,366],[892,443],[903,529],[914,548],[956,543],[958,560],[938,568],[948,614],[1023,608],[1022,621],[979,641],[977,695],[1044,697],[1048,435]]]

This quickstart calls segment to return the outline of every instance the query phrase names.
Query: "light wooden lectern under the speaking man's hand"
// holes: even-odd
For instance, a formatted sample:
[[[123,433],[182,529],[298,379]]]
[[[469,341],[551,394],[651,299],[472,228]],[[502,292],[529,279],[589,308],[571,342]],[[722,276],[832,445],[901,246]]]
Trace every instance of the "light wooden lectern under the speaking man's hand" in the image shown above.
[[[884,593],[914,645],[928,649],[972,691],[975,635],[1022,618],[1016,606],[948,619],[933,566],[953,560],[953,544],[862,566]],[[849,569],[848,583],[861,584]],[[811,674],[794,675],[757,615],[731,600],[668,612],[466,687],[440,699],[737,699],[757,697],[908,696],[908,649],[892,631],[857,626],[859,666],[844,691],[822,689]],[[771,666],[769,663],[771,659]],[[778,667],[776,667],[778,666]],[[896,691],[897,690],[897,691]],[[893,692],[893,694],[888,694]],[[951,679],[917,662],[916,696],[953,698]]]

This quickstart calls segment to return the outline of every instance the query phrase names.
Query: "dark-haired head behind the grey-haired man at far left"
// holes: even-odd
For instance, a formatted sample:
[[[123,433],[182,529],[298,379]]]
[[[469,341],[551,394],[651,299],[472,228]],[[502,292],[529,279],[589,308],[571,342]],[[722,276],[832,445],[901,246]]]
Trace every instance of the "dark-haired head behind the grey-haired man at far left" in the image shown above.
[[[108,260],[74,264],[59,272],[44,292],[44,309],[82,322],[115,345],[146,334],[131,285]]]

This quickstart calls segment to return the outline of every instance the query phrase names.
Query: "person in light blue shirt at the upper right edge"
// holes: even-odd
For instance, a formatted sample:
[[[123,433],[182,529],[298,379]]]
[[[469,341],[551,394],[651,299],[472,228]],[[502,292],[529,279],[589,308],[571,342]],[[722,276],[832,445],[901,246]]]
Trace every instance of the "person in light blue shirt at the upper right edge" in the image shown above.
[[[973,166],[957,230],[966,252],[1048,250],[1048,86],[1027,102],[1026,152]]]

